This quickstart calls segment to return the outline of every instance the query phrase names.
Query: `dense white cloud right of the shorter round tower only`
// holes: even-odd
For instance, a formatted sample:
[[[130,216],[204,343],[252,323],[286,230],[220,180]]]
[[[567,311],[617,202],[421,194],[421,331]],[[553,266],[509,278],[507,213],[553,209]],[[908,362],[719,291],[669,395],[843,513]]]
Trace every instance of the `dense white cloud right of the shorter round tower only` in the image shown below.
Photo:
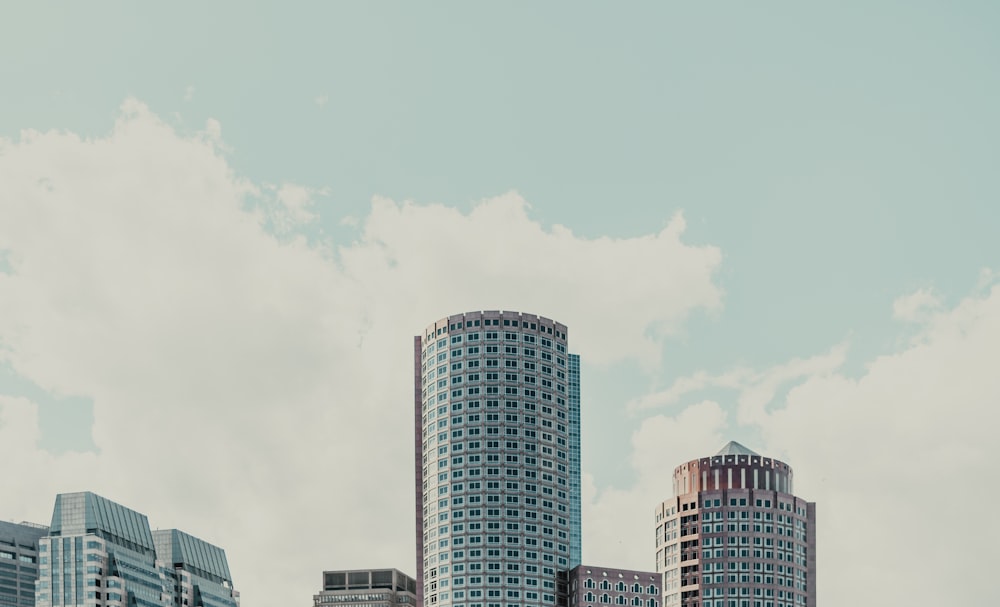
[[[1000,491],[990,480],[1000,461],[998,359],[994,286],[928,319],[918,341],[876,359],[860,379],[806,380],[762,425],[796,466],[799,489],[820,504],[819,558],[832,579],[858,580],[872,603],[1000,600],[983,552],[1000,539],[992,511]],[[956,516],[965,524],[950,524]],[[948,581],[956,578],[965,580],[960,590]],[[857,590],[830,583],[823,592],[839,604]]]

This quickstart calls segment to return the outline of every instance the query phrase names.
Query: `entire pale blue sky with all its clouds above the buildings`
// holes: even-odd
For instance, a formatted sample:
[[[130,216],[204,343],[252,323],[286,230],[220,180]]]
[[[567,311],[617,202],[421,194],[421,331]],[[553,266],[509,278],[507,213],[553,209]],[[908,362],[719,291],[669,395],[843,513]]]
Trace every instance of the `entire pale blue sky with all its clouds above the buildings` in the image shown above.
[[[90,490],[244,607],[415,574],[412,338],[569,326],[583,558],[729,440],[824,605],[995,604],[1000,5],[0,7],[0,518]]]

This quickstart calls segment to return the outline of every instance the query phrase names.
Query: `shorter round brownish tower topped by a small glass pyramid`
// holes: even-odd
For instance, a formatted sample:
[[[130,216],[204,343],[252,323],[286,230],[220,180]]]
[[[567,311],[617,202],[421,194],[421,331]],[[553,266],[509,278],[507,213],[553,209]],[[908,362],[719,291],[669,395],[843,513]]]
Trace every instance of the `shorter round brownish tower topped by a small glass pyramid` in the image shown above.
[[[655,517],[664,607],[815,607],[816,504],[792,481],[736,442],[675,468]]]

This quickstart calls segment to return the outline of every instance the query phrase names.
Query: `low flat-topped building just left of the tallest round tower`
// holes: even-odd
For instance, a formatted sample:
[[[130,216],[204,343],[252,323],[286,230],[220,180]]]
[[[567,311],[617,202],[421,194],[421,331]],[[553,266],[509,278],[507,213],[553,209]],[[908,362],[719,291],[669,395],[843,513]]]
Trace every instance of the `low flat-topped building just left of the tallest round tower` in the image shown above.
[[[413,607],[417,581],[397,569],[351,569],[323,572],[323,590],[313,607]]]

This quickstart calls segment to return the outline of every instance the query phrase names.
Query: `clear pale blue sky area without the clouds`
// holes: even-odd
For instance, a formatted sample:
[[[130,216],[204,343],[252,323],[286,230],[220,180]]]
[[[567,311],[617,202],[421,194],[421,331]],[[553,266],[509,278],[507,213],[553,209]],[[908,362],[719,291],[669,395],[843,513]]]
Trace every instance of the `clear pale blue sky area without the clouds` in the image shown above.
[[[183,136],[214,119],[239,178],[326,189],[308,233],[335,245],[373,196],[468,211],[514,190],[588,239],[682,212],[684,242],[721,251],[722,306],[653,372],[584,358],[598,490],[638,474],[625,402],[841,343],[858,378],[913,333],[897,298],[951,308],[1000,268],[996,2],[21,3],[0,21],[0,137],[103,137],[129,97]],[[39,403],[47,450],[94,448],[89,395],[9,365],[0,393]],[[680,405],[735,410],[700,394]]]

